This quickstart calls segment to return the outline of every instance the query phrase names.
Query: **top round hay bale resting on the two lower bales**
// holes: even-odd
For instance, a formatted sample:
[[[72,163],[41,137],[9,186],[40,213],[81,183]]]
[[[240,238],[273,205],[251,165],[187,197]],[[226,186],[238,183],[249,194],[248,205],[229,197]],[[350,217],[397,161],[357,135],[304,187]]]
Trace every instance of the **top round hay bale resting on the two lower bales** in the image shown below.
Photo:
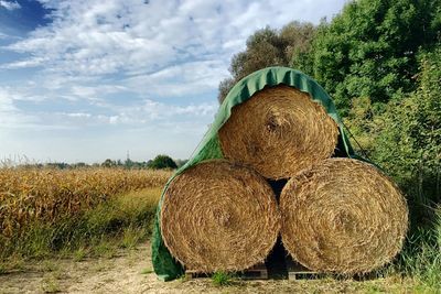
[[[280,179],[330,157],[338,128],[308,94],[279,85],[235,106],[218,135],[225,157]]]

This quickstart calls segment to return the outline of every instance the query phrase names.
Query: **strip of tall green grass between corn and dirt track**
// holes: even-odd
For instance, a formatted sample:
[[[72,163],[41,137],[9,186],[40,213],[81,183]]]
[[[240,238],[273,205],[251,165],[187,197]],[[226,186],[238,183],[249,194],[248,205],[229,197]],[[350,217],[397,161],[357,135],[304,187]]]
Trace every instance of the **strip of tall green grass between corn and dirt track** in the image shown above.
[[[44,258],[54,253],[103,254],[109,247],[130,248],[151,232],[161,188],[119,194],[82,214],[56,222],[33,220],[11,236],[0,236],[0,260]]]

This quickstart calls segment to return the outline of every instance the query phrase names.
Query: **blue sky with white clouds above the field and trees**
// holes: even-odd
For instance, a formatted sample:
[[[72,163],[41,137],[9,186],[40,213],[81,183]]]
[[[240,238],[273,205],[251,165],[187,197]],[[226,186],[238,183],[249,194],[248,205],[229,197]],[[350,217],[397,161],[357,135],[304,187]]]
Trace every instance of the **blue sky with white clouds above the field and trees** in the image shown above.
[[[234,54],[344,0],[0,0],[0,162],[187,159]]]

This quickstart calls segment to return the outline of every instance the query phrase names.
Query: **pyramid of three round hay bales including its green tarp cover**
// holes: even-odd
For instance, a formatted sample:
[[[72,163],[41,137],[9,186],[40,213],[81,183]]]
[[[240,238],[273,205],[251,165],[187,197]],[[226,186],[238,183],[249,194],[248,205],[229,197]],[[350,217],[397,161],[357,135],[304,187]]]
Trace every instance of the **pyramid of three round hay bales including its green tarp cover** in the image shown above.
[[[390,261],[407,230],[399,189],[372,164],[331,159],[355,154],[315,81],[288,68],[254,75],[230,91],[166,186],[153,264],[171,262],[166,250],[193,271],[240,271],[265,260],[279,233],[293,259],[320,272],[364,273]],[[203,161],[216,157],[224,160]],[[288,184],[275,195],[266,181],[281,178]]]

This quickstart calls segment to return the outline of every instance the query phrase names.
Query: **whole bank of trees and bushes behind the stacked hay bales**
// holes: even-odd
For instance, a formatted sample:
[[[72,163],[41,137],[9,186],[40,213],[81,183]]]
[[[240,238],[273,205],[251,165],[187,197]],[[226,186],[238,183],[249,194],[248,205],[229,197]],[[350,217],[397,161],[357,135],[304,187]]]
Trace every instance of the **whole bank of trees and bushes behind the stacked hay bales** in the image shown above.
[[[432,219],[441,203],[441,0],[349,1],[318,26],[259,30],[234,55],[219,102],[267,66],[316,79],[357,151],[399,183],[417,210],[412,217]]]

